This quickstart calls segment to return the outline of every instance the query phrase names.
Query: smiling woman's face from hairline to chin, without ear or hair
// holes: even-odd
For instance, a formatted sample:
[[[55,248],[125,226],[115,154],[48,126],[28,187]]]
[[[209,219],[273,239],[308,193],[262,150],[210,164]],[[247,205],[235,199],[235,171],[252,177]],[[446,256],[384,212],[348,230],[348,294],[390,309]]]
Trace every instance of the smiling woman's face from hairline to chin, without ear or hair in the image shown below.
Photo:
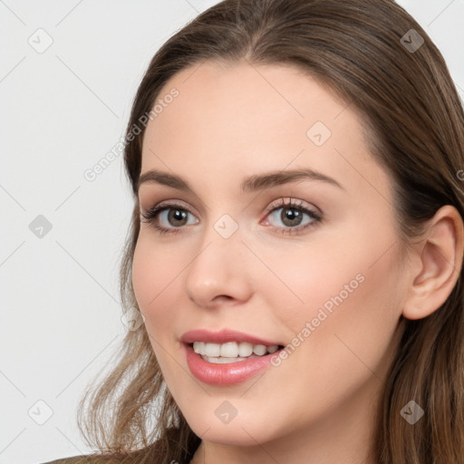
[[[406,280],[391,182],[356,113],[293,67],[247,63],[196,65],[160,100],[141,176],[156,169],[190,189],[154,175],[140,184],[142,213],[174,206],[141,222],[132,271],[169,391],[211,442],[255,445],[303,430],[353,440],[371,427]],[[293,176],[300,169],[320,176]],[[242,354],[246,335],[286,349],[257,370],[254,358],[190,352],[190,363],[182,337],[196,329],[242,333],[220,339],[237,339]]]

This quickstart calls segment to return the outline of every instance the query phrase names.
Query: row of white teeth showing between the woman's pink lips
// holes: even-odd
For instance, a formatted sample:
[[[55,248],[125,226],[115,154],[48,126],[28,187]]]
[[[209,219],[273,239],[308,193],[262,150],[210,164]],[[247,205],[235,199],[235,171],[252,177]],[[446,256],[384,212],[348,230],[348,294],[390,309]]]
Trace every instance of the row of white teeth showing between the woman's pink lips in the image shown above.
[[[208,358],[247,358],[255,356],[263,356],[266,353],[275,353],[278,350],[278,345],[265,346],[264,344],[252,344],[247,342],[227,342],[227,343],[205,343],[194,342],[193,350],[195,353],[202,354]],[[234,361],[242,361],[237,359]],[[212,361],[212,362],[227,362]]]

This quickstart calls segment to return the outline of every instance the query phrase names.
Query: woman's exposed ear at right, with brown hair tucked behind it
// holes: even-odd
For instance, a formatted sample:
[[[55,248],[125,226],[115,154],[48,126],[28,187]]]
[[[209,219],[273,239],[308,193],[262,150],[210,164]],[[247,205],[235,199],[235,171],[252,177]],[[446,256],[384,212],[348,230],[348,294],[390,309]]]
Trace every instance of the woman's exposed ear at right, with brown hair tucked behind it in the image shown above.
[[[402,310],[406,319],[421,319],[436,311],[458,281],[464,247],[459,211],[450,205],[441,207],[422,237],[412,252],[411,285]]]

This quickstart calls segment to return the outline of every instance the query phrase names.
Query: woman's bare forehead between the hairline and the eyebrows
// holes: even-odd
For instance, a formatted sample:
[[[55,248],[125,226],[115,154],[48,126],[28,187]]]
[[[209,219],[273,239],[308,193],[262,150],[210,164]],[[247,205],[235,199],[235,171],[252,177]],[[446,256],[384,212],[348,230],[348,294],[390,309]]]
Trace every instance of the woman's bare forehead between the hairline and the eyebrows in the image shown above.
[[[157,102],[173,89],[178,96],[166,99],[145,131],[142,172],[209,172],[227,181],[297,164],[352,176],[353,188],[365,182],[356,173],[362,167],[372,182],[387,180],[373,164],[358,112],[295,66],[197,64],[175,74]]]

